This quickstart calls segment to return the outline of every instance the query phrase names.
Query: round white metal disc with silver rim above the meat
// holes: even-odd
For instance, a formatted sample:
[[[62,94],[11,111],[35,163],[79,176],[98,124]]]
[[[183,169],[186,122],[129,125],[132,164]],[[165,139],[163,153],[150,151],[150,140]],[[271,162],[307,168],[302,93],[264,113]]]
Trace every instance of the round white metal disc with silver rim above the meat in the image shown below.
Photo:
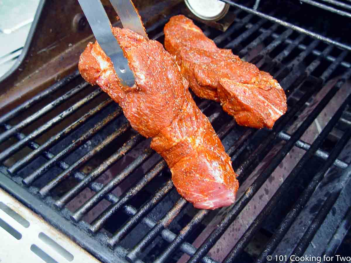
[[[229,10],[229,5],[219,0],[185,0],[185,4],[194,15],[203,20],[217,21]]]

